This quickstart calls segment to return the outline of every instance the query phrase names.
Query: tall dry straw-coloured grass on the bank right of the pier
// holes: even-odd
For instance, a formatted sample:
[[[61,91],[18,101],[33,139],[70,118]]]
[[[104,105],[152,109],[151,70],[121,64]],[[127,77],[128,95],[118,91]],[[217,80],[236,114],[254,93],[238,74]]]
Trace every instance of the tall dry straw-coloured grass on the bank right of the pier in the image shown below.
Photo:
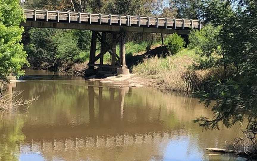
[[[137,75],[156,79],[162,89],[192,92],[201,88],[210,72],[190,70],[189,67],[198,58],[192,50],[183,49],[176,55],[166,58],[144,59],[142,63],[134,66],[132,71]]]

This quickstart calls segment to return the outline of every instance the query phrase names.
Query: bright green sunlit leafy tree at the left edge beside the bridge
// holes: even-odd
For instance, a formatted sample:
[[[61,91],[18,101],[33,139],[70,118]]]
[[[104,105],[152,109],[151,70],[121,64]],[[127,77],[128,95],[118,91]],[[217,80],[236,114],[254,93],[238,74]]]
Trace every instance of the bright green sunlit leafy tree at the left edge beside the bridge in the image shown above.
[[[23,11],[16,0],[0,0],[0,78],[10,73],[23,74],[26,52],[20,44],[23,27],[20,27]]]

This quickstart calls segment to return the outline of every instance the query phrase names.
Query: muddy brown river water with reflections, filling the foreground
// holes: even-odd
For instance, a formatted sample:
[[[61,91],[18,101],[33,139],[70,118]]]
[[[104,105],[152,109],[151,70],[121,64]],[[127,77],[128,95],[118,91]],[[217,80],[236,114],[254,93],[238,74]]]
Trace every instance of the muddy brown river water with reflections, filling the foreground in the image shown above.
[[[27,112],[0,113],[0,160],[245,160],[209,154],[240,127],[203,131],[192,120],[211,111],[187,94],[115,88],[27,70],[10,90],[40,96]]]

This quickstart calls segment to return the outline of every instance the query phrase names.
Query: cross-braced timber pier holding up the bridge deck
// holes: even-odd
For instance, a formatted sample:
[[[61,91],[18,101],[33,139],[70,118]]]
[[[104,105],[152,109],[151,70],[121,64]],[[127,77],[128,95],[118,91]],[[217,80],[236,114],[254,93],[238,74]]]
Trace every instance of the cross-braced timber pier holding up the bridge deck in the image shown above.
[[[90,58],[89,58],[89,69],[100,67],[101,70],[104,68],[110,68],[113,73],[118,74],[129,74],[129,69],[126,66],[126,52],[125,52],[125,33],[124,32],[111,32],[111,44],[106,42],[106,32],[101,34],[98,31],[92,31],[91,46],[90,46]],[[96,56],[96,40],[101,43],[101,51]],[[119,55],[116,54],[116,46],[119,43],[120,51]],[[110,64],[104,64],[104,55],[108,52],[111,56]],[[100,59],[99,63],[98,59]]]

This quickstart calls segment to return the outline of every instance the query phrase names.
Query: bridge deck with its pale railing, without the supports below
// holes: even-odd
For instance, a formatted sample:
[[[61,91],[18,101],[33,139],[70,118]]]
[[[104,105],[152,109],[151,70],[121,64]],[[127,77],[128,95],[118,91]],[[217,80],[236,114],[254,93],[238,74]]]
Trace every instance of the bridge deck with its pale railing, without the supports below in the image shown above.
[[[201,29],[203,21],[130,15],[24,9],[27,27],[85,29],[110,32],[148,32],[189,34],[190,29]]]

